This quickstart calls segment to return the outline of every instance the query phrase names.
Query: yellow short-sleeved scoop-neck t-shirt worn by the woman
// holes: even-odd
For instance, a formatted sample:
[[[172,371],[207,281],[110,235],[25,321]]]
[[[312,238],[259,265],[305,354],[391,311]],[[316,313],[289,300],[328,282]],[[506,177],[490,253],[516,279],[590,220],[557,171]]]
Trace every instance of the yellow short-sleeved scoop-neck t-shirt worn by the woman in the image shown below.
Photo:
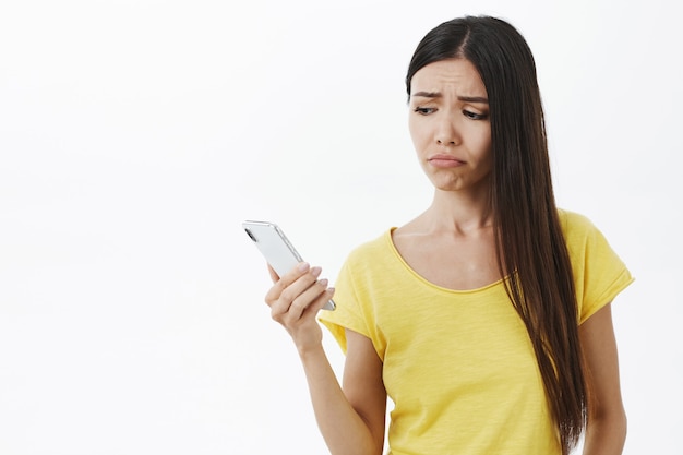
[[[580,323],[633,278],[588,219],[560,217]],[[347,327],[382,359],[394,403],[390,453],[561,454],[534,348],[503,282],[435,286],[404,262],[392,230],[351,252],[335,284],[337,310],[320,316],[345,351]]]

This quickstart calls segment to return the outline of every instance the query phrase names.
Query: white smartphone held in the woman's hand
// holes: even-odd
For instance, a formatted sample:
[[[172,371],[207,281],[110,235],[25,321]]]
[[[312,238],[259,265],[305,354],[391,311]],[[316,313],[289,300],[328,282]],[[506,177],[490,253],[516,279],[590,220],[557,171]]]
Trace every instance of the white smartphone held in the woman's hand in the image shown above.
[[[285,232],[275,223],[243,221],[242,228],[279,276],[285,275],[303,261]],[[323,310],[332,311],[337,306],[331,299]]]

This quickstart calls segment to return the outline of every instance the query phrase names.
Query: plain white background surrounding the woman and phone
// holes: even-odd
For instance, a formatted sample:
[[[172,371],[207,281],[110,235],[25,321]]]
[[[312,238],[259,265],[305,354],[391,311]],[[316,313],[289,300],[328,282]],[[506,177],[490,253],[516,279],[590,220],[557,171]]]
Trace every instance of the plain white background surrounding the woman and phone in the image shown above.
[[[2,0],[0,453],[325,453],[240,221],[334,280],[426,208],[403,80],[466,13],[528,39],[559,204],[637,278],[613,308],[625,454],[680,451],[674,3],[465,3]]]

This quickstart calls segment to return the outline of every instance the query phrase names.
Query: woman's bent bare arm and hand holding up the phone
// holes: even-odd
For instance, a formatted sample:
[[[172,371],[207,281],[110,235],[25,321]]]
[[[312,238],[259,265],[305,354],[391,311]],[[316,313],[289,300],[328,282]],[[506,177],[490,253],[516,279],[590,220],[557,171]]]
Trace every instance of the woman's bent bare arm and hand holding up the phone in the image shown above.
[[[386,392],[382,362],[369,338],[347,331],[344,391],[322,345],[317,311],[333,295],[320,268],[308,264],[275,280],[266,295],[272,316],[292,337],[303,364],[315,419],[333,455],[381,455]],[[348,396],[348,397],[347,397]]]

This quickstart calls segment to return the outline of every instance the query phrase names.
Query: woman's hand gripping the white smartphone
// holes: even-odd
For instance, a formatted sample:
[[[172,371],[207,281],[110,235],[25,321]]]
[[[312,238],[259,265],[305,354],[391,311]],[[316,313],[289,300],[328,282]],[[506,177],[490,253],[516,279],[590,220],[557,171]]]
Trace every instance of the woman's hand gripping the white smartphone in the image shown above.
[[[317,279],[321,267],[301,262],[281,277],[269,265],[268,271],[274,283],[265,296],[271,316],[287,330],[300,354],[322,346],[323,333],[315,315],[332,298],[334,288],[327,287],[327,279]]]

